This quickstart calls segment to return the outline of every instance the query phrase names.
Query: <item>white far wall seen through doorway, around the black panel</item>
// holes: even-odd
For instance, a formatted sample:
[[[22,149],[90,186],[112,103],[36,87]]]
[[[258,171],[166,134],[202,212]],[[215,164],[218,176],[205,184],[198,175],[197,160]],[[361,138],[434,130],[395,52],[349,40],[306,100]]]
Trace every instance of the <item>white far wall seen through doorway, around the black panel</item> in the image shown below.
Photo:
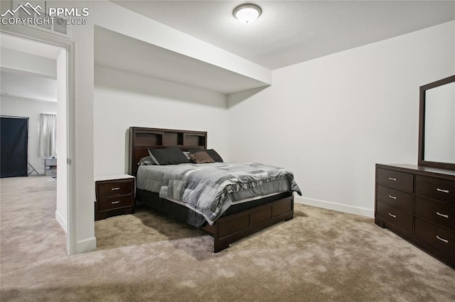
[[[47,101],[35,101],[11,96],[1,96],[0,112],[4,116],[28,117],[28,162],[38,171],[44,173],[44,164],[38,157],[38,142],[40,135],[40,114],[57,113],[57,103]],[[28,166],[28,171],[31,167]],[[33,175],[36,175],[33,172]]]

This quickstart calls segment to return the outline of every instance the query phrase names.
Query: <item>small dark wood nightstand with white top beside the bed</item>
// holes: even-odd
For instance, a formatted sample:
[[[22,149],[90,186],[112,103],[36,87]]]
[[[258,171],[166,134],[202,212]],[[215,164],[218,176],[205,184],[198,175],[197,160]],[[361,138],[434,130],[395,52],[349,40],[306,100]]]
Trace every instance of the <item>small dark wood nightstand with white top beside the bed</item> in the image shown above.
[[[95,177],[95,220],[134,213],[134,180],[128,174]]]

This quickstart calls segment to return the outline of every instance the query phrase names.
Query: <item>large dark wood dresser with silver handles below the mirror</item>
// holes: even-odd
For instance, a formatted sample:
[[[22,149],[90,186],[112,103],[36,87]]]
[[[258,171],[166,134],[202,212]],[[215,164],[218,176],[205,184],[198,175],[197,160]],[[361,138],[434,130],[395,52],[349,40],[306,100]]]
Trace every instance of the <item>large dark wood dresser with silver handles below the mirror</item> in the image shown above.
[[[376,164],[375,223],[455,268],[455,171]]]

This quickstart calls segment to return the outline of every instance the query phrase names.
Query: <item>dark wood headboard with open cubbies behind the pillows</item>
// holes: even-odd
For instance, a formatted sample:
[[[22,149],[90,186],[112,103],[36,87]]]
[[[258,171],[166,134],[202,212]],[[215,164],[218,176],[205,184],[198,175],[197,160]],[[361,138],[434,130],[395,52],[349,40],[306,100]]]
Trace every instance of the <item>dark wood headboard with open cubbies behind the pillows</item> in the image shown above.
[[[182,151],[207,149],[207,132],[129,127],[129,174],[136,176],[137,163],[149,156],[149,148],[179,147]]]

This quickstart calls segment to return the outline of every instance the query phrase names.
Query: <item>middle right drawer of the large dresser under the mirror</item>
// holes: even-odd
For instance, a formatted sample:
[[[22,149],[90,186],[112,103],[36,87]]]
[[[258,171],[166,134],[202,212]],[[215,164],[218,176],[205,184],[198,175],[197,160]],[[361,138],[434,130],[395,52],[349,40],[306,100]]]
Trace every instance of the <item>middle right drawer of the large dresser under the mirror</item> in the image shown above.
[[[455,206],[416,196],[415,216],[455,232]]]

